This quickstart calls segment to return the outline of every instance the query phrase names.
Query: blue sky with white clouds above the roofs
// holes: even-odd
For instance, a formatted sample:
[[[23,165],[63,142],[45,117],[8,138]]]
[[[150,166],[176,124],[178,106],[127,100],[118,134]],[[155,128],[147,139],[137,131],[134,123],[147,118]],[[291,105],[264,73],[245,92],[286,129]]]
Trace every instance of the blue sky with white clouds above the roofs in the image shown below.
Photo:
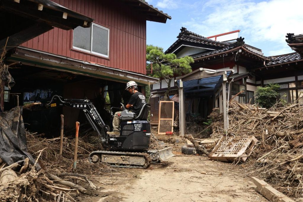
[[[177,40],[181,27],[208,37],[241,30],[245,43],[265,56],[293,52],[286,33],[303,34],[303,0],[147,0],[172,17],[166,24],[147,22],[147,44],[164,51]]]

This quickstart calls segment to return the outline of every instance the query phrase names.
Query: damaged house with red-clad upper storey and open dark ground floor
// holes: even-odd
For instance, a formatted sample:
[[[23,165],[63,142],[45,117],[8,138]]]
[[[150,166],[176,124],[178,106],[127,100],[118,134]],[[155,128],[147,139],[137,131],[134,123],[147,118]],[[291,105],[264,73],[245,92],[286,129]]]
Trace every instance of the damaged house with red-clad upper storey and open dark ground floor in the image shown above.
[[[92,22],[74,30],[48,29],[10,50],[6,60],[22,65],[10,69],[16,84],[4,90],[4,110],[17,103],[43,103],[58,94],[63,98],[87,98],[102,116],[106,95],[112,107],[120,106],[122,99],[128,101],[128,81],[137,82],[142,93],[145,85],[158,81],[146,75],[146,21],[165,23],[171,19],[169,15],[141,0],[55,2],[88,16]],[[30,6],[25,8],[41,11],[38,6],[35,11]],[[69,14],[56,15],[70,18]],[[14,95],[18,95],[18,101]],[[35,106],[35,110],[24,112],[23,118],[29,129],[46,132],[60,125],[60,114],[64,114],[68,127],[74,127],[77,120],[84,122],[79,112],[74,108]]]

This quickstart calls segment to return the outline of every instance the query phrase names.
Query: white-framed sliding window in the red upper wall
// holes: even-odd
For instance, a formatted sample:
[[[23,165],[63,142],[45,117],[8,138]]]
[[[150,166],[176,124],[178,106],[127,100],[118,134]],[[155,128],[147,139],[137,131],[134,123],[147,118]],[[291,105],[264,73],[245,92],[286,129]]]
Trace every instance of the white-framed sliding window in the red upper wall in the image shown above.
[[[109,29],[92,23],[90,28],[74,29],[73,48],[108,58]]]

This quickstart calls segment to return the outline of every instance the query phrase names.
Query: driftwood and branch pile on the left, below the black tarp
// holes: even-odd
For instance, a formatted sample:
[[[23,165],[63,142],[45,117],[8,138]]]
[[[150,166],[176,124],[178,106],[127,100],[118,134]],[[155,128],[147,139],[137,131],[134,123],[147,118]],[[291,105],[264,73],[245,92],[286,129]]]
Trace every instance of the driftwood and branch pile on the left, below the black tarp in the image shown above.
[[[82,137],[78,140],[77,168],[73,170],[74,138],[63,139],[61,161],[58,162],[60,137],[46,139],[27,134],[28,152],[35,157],[42,169],[25,160],[24,165],[7,166],[0,161],[0,201],[76,201],[79,194],[95,195],[97,189],[89,178],[111,172],[107,164],[88,162],[88,154],[100,150],[98,137]],[[115,170],[116,171],[116,170]]]

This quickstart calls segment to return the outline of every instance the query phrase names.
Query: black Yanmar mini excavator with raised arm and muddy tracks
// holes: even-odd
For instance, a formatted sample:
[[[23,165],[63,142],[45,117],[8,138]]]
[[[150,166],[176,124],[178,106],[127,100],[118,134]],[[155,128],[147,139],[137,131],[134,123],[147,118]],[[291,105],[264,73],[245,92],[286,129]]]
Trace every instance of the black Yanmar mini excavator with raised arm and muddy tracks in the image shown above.
[[[114,167],[135,167],[147,168],[151,163],[165,161],[174,155],[171,147],[161,150],[148,150],[151,138],[151,126],[147,121],[150,105],[145,103],[136,116],[126,109],[123,104],[121,113],[120,135],[112,136],[107,134],[110,127],[105,125],[94,104],[88,99],[63,99],[54,95],[46,104],[46,107],[71,107],[82,109],[102,141],[105,151],[93,151],[89,154],[91,163],[105,162]],[[111,114],[113,108],[111,108]]]

